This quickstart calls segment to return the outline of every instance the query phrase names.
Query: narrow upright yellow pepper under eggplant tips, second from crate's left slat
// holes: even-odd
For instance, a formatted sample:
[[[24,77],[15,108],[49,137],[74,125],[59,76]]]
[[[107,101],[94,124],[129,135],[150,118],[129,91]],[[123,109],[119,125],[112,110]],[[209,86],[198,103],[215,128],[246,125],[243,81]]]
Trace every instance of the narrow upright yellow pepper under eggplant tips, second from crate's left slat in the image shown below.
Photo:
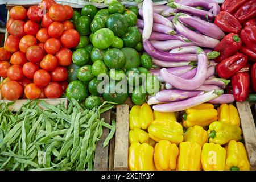
[[[147,129],[151,122],[154,121],[153,111],[146,102],[141,105],[141,111],[139,114],[139,121],[141,122],[141,128]]]

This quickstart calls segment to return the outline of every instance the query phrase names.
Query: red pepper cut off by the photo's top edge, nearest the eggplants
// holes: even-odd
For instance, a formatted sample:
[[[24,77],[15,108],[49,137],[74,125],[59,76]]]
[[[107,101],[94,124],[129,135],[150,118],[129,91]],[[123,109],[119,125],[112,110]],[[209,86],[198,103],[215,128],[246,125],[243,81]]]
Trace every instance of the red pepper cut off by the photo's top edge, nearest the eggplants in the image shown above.
[[[228,13],[234,13],[244,3],[249,0],[225,0],[221,5],[221,11],[227,11]]]

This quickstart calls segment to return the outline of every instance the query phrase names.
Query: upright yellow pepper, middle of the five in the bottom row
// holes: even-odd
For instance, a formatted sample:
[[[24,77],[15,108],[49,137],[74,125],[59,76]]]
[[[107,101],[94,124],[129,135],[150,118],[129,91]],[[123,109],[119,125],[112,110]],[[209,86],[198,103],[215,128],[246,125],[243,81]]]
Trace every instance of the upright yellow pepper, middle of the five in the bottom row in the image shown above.
[[[195,142],[181,142],[177,164],[178,171],[201,170],[201,146]]]

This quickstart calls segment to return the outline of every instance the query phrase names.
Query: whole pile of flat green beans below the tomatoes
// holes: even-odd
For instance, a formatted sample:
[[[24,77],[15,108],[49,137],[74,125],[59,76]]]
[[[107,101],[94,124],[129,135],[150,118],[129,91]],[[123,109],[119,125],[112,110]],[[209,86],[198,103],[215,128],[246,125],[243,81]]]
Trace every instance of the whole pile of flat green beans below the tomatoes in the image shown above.
[[[40,105],[46,109],[42,110]],[[16,113],[0,105],[0,170],[93,170],[96,143],[102,127],[110,129],[105,147],[115,132],[100,114],[112,102],[86,109],[76,100],[57,106],[29,101]]]

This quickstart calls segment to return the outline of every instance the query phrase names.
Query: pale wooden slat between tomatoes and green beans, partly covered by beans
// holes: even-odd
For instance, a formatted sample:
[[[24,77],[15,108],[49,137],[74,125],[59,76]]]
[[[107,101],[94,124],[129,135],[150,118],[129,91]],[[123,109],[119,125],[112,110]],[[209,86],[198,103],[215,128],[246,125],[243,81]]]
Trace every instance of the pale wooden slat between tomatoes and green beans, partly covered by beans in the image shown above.
[[[55,105],[58,105],[62,102],[65,102],[64,105],[65,107],[67,108],[68,107],[68,100],[67,98],[54,98],[54,99],[41,99],[43,101],[45,101],[47,104],[51,104],[53,106]],[[9,100],[0,100],[0,103],[7,103],[7,102],[12,102],[12,101],[9,101]],[[13,110],[13,111],[18,111],[20,109],[20,107],[22,107],[22,105],[26,104],[28,102],[27,99],[20,99],[20,100],[16,100],[15,103],[13,105],[10,105],[9,106],[9,109],[10,110]],[[41,109],[46,109],[45,107],[43,107],[42,105],[38,104],[38,106],[41,108]]]

